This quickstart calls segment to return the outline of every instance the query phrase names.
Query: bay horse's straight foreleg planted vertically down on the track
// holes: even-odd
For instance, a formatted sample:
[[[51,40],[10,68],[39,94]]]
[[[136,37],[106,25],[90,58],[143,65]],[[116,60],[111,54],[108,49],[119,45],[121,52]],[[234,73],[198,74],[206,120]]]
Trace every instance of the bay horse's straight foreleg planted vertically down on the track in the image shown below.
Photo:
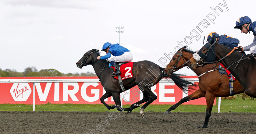
[[[213,102],[215,99],[215,95],[213,95],[212,93],[207,92],[205,94],[205,99],[206,99],[206,115],[205,115],[205,120],[204,120],[204,125],[202,128],[207,128],[208,122],[209,122],[209,118],[212,114],[212,106],[213,106]]]

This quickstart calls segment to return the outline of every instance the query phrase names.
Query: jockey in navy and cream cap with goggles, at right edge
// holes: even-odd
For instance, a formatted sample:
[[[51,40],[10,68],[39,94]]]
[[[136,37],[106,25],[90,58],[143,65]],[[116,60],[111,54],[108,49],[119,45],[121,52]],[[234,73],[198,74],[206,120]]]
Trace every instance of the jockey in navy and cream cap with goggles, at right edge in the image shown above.
[[[251,54],[248,55],[249,59],[254,59],[256,55],[256,21],[252,22],[248,16],[241,16],[236,21],[235,29],[241,30],[241,33],[247,34],[248,32],[252,31],[254,35],[253,42],[244,47],[244,51],[250,51]]]

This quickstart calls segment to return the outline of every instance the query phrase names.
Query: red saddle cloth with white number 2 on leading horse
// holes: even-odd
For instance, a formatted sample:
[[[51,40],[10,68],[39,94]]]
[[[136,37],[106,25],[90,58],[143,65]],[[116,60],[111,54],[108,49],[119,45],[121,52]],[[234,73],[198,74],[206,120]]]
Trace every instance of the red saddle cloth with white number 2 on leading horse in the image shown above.
[[[110,64],[109,64],[110,65]],[[114,71],[116,71],[115,67],[111,66],[110,67],[112,69],[114,69]],[[133,77],[133,62],[128,62],[128,63],[125,63],[125,64],[122,64],[119,68],[119,70],[121,71],[121,79],[124,80],[124,79],[128,79],[128,78],[132,78]],[[117,76],[115,76],[114,78],[118,79]]]

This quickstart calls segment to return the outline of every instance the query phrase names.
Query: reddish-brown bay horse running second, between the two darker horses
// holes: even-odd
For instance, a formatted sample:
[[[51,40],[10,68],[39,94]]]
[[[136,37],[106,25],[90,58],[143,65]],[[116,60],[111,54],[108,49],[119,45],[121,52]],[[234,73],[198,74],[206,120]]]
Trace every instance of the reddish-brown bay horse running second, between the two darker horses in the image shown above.
[[[172,57],[172,61],[170,61],[170,63],[167,65],[167,67],[164,70],[164,72],[167,75],[171,75],[173,72],[176,72],[179,69],[181,69],[185,66],[188,66],[188,64],[186,62],[189,61],[190,58],[192,58],[192,55],[195,52],[187,50],[186,47],[187,46],[181,48]],[[220,77],[221,73],[219,73],[218,70],[214,70],[214,69],[216,69],[215,65],[216,65],[216,67],[219,67],[219,62],[215,63],[215,64],[208,64],[208,65],[205,65],[204,67],[198,67],[198,68],[194,69],[193,71],[197,74],[197,76],[201,75],[200,77],[198,77],[199,89],[196,90],[194,93],[188,95],[187,97],[184,97],[178,103],[172,105],[172,107],[169,108],[165,112],[165,114],[169,114],[170,111],[176,109],[178,106],[180,106],[184,102],[187,102],[190,100],[195,100],[195,99],[198,99],[201,97],[205,97],[205,99],[206,99],[206,115],[205,115],[204,125],[202,128],[207,128],[209,118],[212,113],[212,106],[214,103],[214,99],[216,97],[230,96],[228,75],[224,74],[222,77]],[[214,70],[214,71],[211,71],[211,70]],[[205,73],[205,72],[208,72],[208,73]],[[233,91],[234,91],[234,94],[244,92],[243,87],[236,79],[234,81]]]

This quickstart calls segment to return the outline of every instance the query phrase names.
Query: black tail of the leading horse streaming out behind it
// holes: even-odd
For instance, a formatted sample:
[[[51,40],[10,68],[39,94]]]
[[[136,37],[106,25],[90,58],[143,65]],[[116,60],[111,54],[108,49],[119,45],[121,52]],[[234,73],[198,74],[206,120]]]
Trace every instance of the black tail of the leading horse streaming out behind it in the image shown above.
[[[170,82],[174,82],[184,93],[188,93],[187,91],[187,87],[189,87],[189,91],[195,91],[197,90],[197,86],[196,84],[190,82],[190,81],[187,81],[186,79],[182,78],[181,77],[181,74],[176,74],[176,73],[172,73],[171,75],[166,75],[166,74],[163,74],[163,78],[169,78],[169,81]],[[171,81],[172,79],[172,81]]]

